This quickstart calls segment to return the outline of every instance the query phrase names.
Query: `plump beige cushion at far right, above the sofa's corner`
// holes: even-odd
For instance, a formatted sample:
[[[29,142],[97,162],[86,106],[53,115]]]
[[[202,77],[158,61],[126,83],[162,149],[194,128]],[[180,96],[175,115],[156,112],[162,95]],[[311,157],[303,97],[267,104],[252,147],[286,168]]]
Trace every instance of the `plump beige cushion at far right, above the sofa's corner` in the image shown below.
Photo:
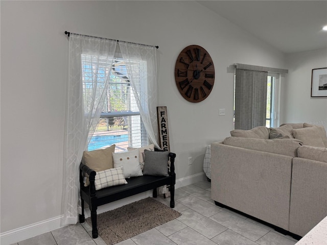
[[[304,145],[325,147],[322,140],[322,134],[318,127],[308,127],[302,129],[293,129],[294,138],[299,139]]]

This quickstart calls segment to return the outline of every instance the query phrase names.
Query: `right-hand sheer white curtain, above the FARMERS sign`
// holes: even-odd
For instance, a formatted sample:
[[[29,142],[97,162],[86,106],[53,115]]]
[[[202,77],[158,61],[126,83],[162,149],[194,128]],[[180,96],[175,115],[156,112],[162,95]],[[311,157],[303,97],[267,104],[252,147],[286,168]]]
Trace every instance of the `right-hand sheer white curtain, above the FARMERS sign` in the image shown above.
[[[157,122],[157,58],[156,47],[119,41],[119,47],[126,64],[128,78],[136,98],[139,113],[151,143],[158,145]],[[135,61],[145,61],[146,67],[141,75],[141,86],[136,86]]]

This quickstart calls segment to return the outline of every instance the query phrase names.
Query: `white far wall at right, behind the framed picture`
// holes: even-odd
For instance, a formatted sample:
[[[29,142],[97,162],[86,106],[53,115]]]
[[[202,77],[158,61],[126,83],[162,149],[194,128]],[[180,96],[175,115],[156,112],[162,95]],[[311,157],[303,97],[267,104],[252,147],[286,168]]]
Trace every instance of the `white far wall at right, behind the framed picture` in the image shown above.
[[[312,69],[327,67],[327,49],[289,54],[289,74],[283,84],[281,124],[309,122],[327,129],[327,97],[311,97]]]

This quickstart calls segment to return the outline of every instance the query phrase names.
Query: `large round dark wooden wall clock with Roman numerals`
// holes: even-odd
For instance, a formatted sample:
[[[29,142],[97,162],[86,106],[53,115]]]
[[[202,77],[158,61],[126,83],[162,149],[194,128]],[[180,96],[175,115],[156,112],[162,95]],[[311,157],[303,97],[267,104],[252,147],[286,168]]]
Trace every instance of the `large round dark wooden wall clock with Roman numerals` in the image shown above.
[[[185,100],[197,103],[206,99],[215,83],[215,66],[208,52],[199,45],[185,47],[176,61],[175,80]]]

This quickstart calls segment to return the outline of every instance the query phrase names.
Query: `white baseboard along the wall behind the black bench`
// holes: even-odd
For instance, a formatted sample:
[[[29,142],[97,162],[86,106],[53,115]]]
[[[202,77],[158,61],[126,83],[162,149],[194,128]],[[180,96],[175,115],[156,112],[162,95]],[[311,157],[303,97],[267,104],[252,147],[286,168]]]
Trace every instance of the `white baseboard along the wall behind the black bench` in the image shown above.
[[[175,188],[180,188],[186,185],[191,185],[193,183],[206,180],[204,173],[195,174],[192,176],[180,178],[176,180]],[[102,205],[98,207],[98,213],[107,212],[109,210],[119,208],[121,206],[127,205],[132,202],[136,202],[141,199],[145,199],[147,197],[152,196],[152,191],[146,191],[143,193],[139,193],[133,195],[132,197],[128,197],[116,202],[112,202],[110,204]],[[90,216],[90,211],[88,208],[85,209],[85,217]],[[10,245],[18,241],[26,240],[28,238],[41,235],[46,232],[50,232],[56,229],[61,228],[60,221],[63,216],[57,216],[53,218],[49,218],[43,220],[41,222],[37,222],[28,226],[20,227],[11,231],[7,231],[0,234],[0,244],[1,245]]]

